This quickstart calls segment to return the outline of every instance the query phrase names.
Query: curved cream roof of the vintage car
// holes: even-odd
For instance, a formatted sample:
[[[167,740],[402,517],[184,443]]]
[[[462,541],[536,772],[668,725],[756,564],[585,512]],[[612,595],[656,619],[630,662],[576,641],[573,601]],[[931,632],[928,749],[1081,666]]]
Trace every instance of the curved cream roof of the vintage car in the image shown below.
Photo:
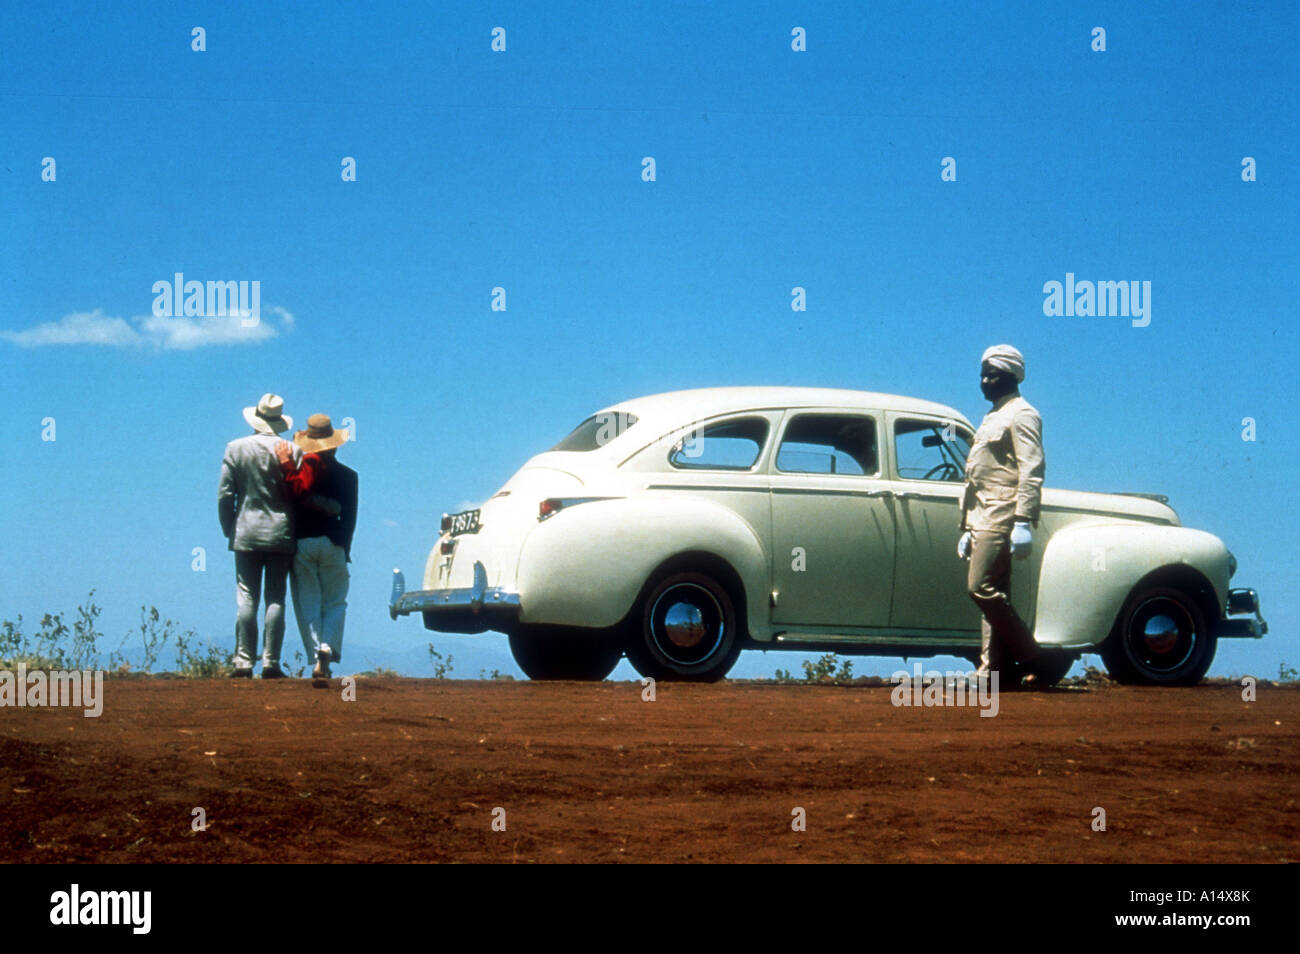
[[[629,412],[637,417],[672,424],[699,421],[718,415],[763,408],[861,407],[867,411],[902,411],[966,421],[966,416],[946,404],[919,398],[905,398],[879,391],[854,391],[841,387],[697,387],[633,398],[607,408],[606,412]],[[968,422],[968,421],[967,421]]]

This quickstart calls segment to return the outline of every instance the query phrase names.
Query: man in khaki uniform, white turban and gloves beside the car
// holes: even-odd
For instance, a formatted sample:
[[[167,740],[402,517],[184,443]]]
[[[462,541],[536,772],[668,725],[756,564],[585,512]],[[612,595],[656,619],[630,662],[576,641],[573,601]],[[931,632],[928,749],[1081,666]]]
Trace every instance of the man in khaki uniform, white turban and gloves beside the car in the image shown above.
[[[1010,344],[996,344],[980,359],[980,390],[993,404],[975,432],[966,458],[962,535],[957,555],[970,560],[966,589],[980,608],[978,675],[1002,672],[1010,663],[1023,669],[1037,655],[1034,634],[1011,606],[1011,558],[1028,558],[1032,526],[1043,494],[1043,419],[1024,398],[1024,356]],[[1034,673],[1008,680],[1004,688],[1032,688]]]

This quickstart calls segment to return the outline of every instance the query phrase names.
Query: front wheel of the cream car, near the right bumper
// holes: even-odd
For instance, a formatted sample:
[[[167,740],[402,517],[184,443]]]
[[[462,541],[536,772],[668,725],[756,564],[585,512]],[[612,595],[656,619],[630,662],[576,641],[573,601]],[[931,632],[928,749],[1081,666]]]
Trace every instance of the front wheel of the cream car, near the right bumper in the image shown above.
[[[1190,686],[1214,659],[1214,634],[1187,593],[1169,586],[1135,591],[1101,645],[1110,676],[1136,685]]]

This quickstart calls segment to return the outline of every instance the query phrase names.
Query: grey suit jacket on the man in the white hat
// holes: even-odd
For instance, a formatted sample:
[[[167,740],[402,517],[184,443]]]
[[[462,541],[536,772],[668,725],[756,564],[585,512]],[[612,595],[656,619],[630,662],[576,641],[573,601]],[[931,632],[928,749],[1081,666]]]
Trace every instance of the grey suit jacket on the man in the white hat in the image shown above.
[[[217,517],[231,550],[291,554],[294,503],[276,460],[281,435],[250,434],[226,445],[217,490]],[[302,452],[292,443],[294,459]]]

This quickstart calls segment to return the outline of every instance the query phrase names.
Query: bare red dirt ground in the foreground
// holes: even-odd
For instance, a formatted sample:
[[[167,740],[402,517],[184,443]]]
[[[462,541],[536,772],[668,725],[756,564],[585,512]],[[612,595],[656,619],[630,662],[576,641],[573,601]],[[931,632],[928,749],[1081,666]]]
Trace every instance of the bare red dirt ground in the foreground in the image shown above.
[[[993,719],[770,682],[654,702],[636,682],[407,678],[360,678],[355,702],[338,680],[104,693],[99,719],[0,708],[0,859],[1300,859],[1294,688],[1004,694]]]

